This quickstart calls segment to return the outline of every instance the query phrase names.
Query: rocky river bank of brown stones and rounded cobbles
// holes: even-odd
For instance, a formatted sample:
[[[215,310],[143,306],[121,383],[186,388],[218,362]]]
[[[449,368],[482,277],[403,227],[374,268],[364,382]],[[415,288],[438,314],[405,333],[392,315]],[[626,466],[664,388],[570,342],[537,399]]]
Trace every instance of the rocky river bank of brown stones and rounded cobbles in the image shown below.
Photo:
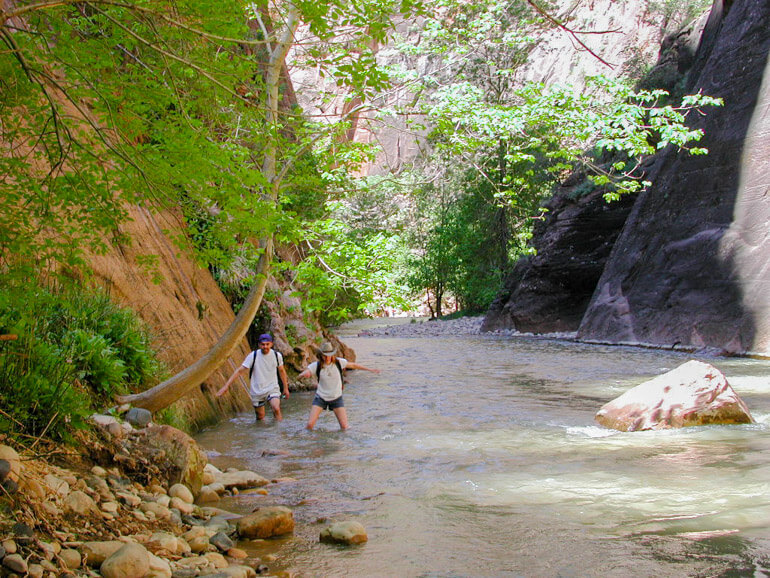
[[[243,516],[216,507],[220,496],[268,495],[285,480],[221,471],[179,430],[106,417],[77,450],[41,442],[17,452],[0,440],[0,575],[292,575],[271,572],[275,556],[236,545],[291,532],[290,510]]]

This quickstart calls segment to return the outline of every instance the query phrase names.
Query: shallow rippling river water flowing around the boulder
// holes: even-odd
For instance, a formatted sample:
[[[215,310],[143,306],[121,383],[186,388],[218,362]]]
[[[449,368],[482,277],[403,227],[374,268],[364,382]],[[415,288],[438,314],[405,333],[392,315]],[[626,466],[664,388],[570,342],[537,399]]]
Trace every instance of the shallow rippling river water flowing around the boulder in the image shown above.
[[[221,503],[294,512],[291,537],[244,547],[298,576],[770,576],[770,362],[709,359],[756,424],[621,433],[605,402],[691,356],[532,337],[357,337],[345,390],[304,429],[236,416],[198,436],[220,467],[268,478],[269,495]],[[268,412],[269,414],[269,412]],[[355,519],[369,542],[321,544]]]

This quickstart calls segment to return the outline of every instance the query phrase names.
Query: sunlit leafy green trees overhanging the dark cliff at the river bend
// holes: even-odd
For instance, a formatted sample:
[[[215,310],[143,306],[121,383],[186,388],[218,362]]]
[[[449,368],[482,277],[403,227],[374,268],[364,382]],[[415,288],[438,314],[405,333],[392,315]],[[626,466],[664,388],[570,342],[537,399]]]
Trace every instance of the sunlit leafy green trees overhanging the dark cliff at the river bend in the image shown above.
[[[415,292],[427,293],[433,314],[441,315],[447,294],[468,311],[488,307],[510,263],[529,250],[542,201],[572,171],[585,172],[611,200],[646,186],[639,167],[656,150],[706,152],[693,146],[702,135],[686,117],[718,105],[715,99],[673,103],[664,91],[607,78],[580,90],[517,82],[538,28],[560,26],[579,37],[555,12],[524,0],[447,0],[434,14],[419,46],[406,48],[432,59],[435,71],[414,84],[417,128],[427,127],[430,151],[415,170],[432,177],[420,188],[423,218],[411,236],[407,275]],[[399,74],[414,78],[403,68]]]

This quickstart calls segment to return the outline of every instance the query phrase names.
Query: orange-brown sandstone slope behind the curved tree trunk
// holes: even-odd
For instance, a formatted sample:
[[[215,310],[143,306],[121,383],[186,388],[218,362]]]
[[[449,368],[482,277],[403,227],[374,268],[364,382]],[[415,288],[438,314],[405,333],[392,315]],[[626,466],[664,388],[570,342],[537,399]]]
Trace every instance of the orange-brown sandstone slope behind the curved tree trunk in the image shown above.
[[[178,215],[139,207],[131,207],[130,215],[121,232],[132,242],[92,256],[89,263],[111,297],[134,309],[152,328],[161,358],[176,373],[208,351],[235,316],[209,272],[171,241],[184,227]],[[157,256],[149,271],[141,265],[141,257],[148,255]],[[236,393],[223,400],[213,397],[248,351],[244,339],[208,383],[177,402],[194,426],[248,407],[242,388],[233,387]]]

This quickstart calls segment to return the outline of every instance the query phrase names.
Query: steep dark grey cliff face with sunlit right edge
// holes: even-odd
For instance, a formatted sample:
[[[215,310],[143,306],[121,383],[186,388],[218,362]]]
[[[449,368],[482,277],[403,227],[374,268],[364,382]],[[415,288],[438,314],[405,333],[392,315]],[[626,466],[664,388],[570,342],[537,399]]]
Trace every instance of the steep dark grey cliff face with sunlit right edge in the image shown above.
[[[578,337],[770,354],[770,4],[717,0],[692,89],[706,157],[669,151],[618,239]]]

